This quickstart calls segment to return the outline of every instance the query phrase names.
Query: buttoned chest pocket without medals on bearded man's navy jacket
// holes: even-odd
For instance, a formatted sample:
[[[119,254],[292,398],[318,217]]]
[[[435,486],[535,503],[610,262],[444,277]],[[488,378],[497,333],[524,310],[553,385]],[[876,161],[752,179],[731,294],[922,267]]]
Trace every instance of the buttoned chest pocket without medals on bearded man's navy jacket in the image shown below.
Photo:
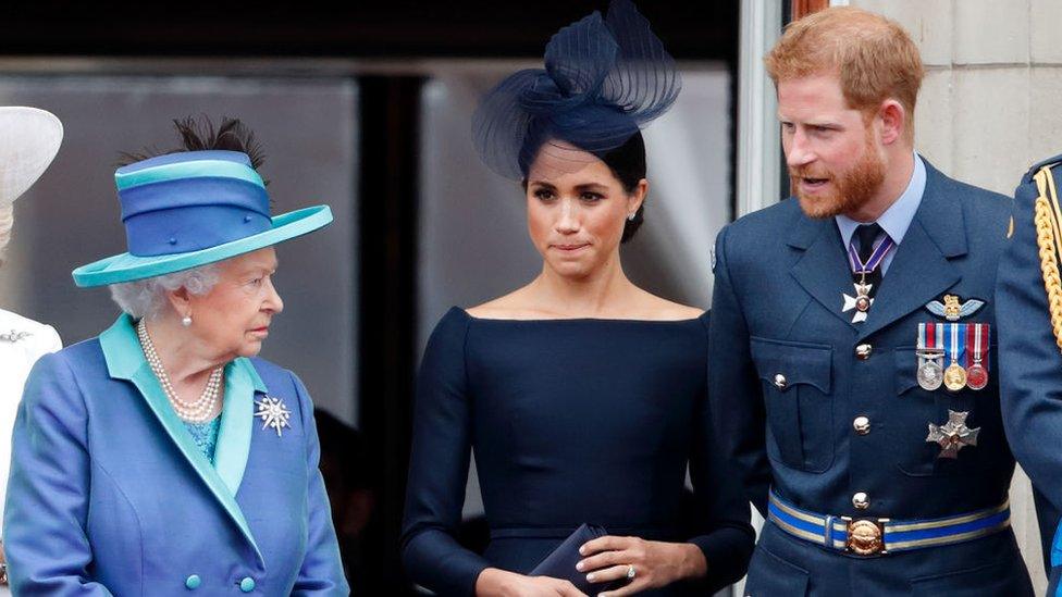
[[[833,349],[829,345],[751,338],[767,410],[767,455],[822,473],[833,463]]]

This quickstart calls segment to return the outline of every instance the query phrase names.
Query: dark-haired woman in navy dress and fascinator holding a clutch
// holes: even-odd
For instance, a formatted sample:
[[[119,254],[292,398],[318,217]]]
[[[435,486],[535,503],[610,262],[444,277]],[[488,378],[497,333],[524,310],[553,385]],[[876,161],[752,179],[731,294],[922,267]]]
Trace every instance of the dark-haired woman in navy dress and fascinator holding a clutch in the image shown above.
[[[439,595],[583,595],[529,576],[582,523],[571,576],[610,596],[711,595],[740,579],[749,505],[713,446],[701,310],[623,274],[619,245],[642,222],[639,126],[674,102],[674,63],[626,0],[561,29],[545,71],[482,102],[478,149],[522,179],[541,274],[439,323],[421,364],[403,557]],[[484,554],[457,540],[474,450],[491,528]],[[687,470],[695,515],[680,514]]]

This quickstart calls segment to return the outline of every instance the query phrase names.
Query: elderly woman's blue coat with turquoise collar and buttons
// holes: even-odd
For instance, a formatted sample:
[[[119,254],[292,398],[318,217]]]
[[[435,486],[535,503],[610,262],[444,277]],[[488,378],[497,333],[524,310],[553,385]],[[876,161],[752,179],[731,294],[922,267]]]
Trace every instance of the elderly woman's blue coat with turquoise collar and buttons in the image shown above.
[[[349,593],[306,388],[260,359],[225,373],[211,465],[128,316],[37,363],[4,515],[16,595]],[[254,418],[267,393],[292,412],[283,435]]]

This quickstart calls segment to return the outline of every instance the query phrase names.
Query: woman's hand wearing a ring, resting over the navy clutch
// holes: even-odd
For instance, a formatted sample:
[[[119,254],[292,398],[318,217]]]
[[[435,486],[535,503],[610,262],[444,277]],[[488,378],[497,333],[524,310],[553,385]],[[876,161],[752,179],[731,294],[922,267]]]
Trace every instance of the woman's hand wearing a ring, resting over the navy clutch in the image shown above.
[[[683,579],[703,576],[707,562],[701,548],[688,543],[647,542],[639,537],[598,537],[579,548],[583,559],[576,570],[591,583],[634,579],[626,586],[601,595],[620,597],[647,588],[667,586]]]

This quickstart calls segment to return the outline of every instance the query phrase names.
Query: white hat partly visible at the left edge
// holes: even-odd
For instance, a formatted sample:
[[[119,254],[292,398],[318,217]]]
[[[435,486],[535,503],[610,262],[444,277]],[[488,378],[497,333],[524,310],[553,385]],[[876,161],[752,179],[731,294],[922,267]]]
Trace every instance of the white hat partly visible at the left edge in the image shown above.
[[[51,112],[0,105],[0,207],[11,204],[51,163],[63,123]]]

